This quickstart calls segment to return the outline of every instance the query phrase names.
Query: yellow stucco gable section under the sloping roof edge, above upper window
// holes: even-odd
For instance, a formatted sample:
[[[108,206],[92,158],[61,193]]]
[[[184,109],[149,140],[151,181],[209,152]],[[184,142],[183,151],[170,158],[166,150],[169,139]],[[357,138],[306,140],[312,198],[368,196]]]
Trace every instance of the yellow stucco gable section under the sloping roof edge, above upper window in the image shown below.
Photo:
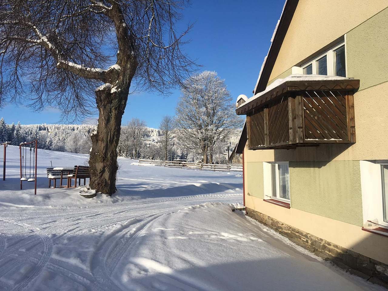
[[[300,0],[269,80],[345,35],[387,6],[387,0]]]

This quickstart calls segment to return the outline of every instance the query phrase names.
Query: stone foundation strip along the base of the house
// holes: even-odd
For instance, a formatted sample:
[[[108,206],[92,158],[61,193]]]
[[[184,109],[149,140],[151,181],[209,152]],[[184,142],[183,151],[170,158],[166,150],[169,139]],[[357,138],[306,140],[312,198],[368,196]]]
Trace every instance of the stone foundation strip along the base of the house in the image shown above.
[[[288,237],[298,246],[308,249],[324,260],[335,263],[347,272],[388,288],[388,265],[282,223],[251,208],[246,207],[246,214]]]

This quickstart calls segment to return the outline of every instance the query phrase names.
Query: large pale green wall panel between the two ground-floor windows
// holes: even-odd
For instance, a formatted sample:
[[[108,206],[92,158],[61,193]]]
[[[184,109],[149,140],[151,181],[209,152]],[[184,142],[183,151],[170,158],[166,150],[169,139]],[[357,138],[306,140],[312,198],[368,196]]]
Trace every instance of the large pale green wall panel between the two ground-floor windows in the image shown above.
[[[289,162],[291,207],[362,226],[359,161]]]

